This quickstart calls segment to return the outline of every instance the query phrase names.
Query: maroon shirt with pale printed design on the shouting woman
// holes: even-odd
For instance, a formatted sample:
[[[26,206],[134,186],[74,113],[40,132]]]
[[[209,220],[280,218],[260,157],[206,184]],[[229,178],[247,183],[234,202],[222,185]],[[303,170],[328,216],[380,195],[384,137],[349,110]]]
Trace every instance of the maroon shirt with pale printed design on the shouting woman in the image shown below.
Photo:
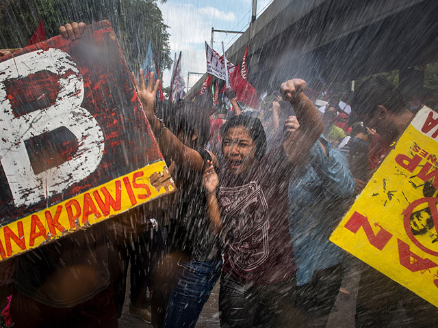
[[[291,166],[281,148],[242,176],[222,169],[218,202],[225,234],[223,270],[239,282],[272,284],[295,275],[287,223]]]

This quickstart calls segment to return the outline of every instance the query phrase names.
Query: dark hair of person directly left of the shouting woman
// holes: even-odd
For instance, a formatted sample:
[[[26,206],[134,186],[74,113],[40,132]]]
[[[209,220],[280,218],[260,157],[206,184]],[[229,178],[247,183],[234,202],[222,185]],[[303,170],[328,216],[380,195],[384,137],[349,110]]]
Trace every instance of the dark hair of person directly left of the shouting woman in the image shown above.
[[[175,135],[182,133],[183,138],[191,139],[195,131],[198,131],[195,147],[203,147],[207,144],[210,136],[210,122],[207,109],[200,106],[200,102],[180,100],[170,118],[168,128]]]

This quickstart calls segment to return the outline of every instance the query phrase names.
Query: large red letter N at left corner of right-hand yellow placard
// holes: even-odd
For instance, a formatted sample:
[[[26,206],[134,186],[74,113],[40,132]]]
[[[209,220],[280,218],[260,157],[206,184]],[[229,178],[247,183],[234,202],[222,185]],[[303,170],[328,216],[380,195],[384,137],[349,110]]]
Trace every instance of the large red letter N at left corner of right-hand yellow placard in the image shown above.
[[[379,251],[385,247],[389,239],[392,237],[392,234],[383,228],[381,228],[377,234],[374,234],[374,231],[370,225],[370,221],[368,221],[368,217],[355,212],[346,223],[345,228],[356,234],[361,227],[363,228],[363,231],[365,232],[370,244],[376,247],[376,249]]]

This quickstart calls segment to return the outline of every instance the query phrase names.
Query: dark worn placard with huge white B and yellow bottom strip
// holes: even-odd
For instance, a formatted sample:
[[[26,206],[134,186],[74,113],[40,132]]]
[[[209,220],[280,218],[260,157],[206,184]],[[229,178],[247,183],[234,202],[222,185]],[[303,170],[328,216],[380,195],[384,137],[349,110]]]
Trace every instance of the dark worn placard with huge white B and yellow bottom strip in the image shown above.
[[[0,258],[175,189],[110,23],[0,60]]]

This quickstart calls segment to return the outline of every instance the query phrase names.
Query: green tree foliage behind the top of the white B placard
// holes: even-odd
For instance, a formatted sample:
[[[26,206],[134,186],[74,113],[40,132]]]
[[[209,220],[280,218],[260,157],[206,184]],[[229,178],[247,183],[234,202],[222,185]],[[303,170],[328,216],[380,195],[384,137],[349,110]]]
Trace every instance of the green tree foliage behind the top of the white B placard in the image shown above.
[[[0,3],[0,49],[25,46],[41,18],[48,38],[58,34],[60,25],[72,21],[89,24],[108,19],[131,70],[142,64],[149,40],[155,52],[155,64],[161,70],[172,65],[168,26],[164,24],[157,0],[3,1]]]

